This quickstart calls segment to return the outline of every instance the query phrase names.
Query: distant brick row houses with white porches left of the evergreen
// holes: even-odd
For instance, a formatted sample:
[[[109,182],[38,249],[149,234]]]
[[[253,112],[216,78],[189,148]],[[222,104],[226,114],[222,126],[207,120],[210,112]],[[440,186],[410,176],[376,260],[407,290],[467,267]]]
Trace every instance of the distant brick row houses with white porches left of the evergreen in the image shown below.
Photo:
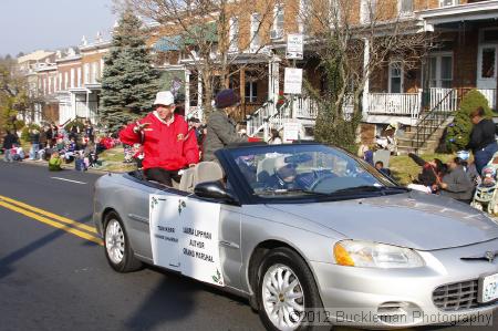
[[[110,46],[111,42],[102,40],[101,34],[97,34],[92,43],[83,38],[79,48],[29,54],[25,58],[50,54],[43,58],[43,61],[30,65],[25,59],[20,58],[20,69],[32,82],[32,93],[37,95],[37,116],[31,122],[64,124],[75,118],[89,118],[96,123],[103,56]]]

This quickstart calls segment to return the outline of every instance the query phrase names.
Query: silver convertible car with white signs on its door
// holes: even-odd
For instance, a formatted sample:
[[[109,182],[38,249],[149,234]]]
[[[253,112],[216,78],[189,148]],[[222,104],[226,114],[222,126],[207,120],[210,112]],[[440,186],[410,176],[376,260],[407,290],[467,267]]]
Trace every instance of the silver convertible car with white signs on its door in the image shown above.
[[[490,322],[498,225],[485,214],[320,144],[216,155],[174,187],[138,172],[96,182],[114,270],[156,265],[246,297],[269,330]]]

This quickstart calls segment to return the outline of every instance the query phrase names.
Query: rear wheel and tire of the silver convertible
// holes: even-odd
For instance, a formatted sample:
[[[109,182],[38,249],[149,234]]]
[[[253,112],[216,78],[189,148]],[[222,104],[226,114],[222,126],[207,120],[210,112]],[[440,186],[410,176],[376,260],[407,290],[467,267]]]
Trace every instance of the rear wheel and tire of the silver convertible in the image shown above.
[[[129,245],[123,221],[111,211],[104,220],[104,250],[108,265],[117,272],[131,272],[142,268]]]

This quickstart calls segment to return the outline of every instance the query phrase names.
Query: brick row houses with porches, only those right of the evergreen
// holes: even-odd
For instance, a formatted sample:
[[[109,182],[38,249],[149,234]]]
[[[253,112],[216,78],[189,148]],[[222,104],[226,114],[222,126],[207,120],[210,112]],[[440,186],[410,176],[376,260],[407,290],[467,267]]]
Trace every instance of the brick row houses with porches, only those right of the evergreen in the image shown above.
[[[373,126],[373,133],[392,122],[416,126],[423,112],[436,106],[453,112],[470,89],[478,89],[489,105],[497,108],[497,0],[351,0],[349,3],[355,10],[349,18],[352,24],[367,24],[373,14],[385,20],[385,24],[393,20],[409,21],[413,30],[407,33],[425,33],[435,38],[430,51],[421,58],[415,68],[408,70],[402,59],[393,56],[372,73],[362,96],[362,112],[364,126]],[[394,12],[375,13],[377,7],[385,4],[392,6]],[[262,14],[257,10],[259,6],[255,7],[253,12],[245,12],[229,20],[230,49],[237,54],[237,61],[245,64],[230,79],[229,85],[240,93],[242,114],[239,120],[249,117],[247,125],[252,134],[262,128],[267,133],[268,126],[281,126],[282,121],[289,120],[282,118],[286,116],[298,117],[312,125],[315,111],[305,96],[294,99],[292,110],[286,111],[287,115],[278,114],[276,107],[279,93],[283,90],[287,35],[297,32],[304,34],[304,54],[314,46],[307,40],[307,25],[299,14],[307,6],[313,6],[313,1],[274,2],[272,14],[264,18],[266,23],[261,23]],[[256,28],[258,23],[260,29]],[[189,54],[172,46],[172,38],[179,37],[172,33],[163,35],[153,46],[156,52],[164,53],[165,61],[160,64],[166,72],[174,70],[176,75],[183,75],[181,81],[188,86],[187,112],[194,114],[203,102],[209,101],[203,101],[199,93],[203,84],[189,70]],[[260,45],[262,49],[259,49]],[[259,52],[256,52],[258,49]],[[297,65],[304,69],[304,76],[312,85],[320,86],[318,61],[313,62],[304,55],[304,60],[298,61]],[[252,116],[248,116],[250,114]]]

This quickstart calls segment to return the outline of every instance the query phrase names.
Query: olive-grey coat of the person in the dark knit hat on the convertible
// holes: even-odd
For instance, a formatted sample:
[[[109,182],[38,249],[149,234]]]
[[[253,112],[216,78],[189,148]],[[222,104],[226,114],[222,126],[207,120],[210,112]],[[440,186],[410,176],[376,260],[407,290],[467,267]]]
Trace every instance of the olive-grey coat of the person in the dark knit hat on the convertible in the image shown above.
[[[215,111],[207,123],[207,134],[204,141],[204,161],[215,161],[215,152],[228,144],[243,143],[247,138],[237,134],[236,122],[220,110]]]

